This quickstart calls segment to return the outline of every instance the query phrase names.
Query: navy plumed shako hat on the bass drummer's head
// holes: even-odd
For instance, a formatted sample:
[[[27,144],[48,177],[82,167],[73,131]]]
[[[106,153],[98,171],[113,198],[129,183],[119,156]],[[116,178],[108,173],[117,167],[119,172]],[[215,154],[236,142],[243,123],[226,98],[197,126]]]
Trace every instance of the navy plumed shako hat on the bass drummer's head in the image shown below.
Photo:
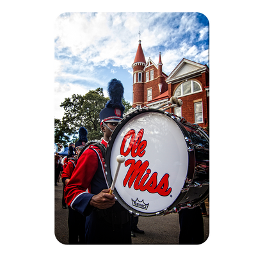
[[[118,79],[114,78],[108,83],[109,99],[106,106],[100,111],[100,125],[102,122],[120,122],[124,114],[124,86]]]

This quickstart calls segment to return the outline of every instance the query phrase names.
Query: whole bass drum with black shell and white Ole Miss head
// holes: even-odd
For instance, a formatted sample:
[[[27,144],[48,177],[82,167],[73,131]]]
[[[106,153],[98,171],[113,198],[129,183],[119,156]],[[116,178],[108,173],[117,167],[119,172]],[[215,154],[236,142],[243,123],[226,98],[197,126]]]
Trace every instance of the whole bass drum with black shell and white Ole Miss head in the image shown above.
[[[109,186],[120,154],[125,162],[114,194],[131,214],[177,212],[197,206],[209,195],[211,141],[184,118],[148,108],[124,116],[106,150]]]

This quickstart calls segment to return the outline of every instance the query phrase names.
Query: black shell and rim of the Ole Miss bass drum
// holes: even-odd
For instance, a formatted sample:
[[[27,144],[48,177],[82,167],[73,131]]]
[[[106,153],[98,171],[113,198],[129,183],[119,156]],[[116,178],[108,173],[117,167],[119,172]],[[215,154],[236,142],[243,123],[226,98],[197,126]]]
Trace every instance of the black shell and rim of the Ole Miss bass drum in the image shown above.
[[[122,128],[120,128],[120,126],[122,127],[122,126],[126,125],[127,122],[129,122],[129,120],[134,118],[136,115],[140,115],[140,113],[146,113],[147,111],[161,113],[164,116],[168,116],[169,118],[172,118],[172,120],[175,121],[175,123],[179,126],[180,130],[182,131],[182,133],[184,135],[184,137],[183,137],[184,140],[186,137],[188,137],[189,140],[192,141],[193,144],[202,145],[202,147],[200,149],[195,149],[192,147],[193,149],[191,151],[188,150],[188,159],[189,159],[188,173],[186,176],[184,176],[184,183],[183,183],[183,186],[180,187],[180,189],[182,190],[182,188],[186,188],[187,186],[189,186],[190,182],[188,182],[188,180],[196,179],[196,180],[203,181],[205,179],[209,179],[209,174],[210,174],[211,169],[205,168],[205,169],[207,169],[207,172],[205,172],[205,170],[203,170],[203,169],[205,167],[205,163],[207,164],[206,166],[211,165],[210,164],[211,161],[209,161],[209,153],[211,152],[211,150],[209,151],[209,149],[211,149],[211,145],[210,145],[209,141],[207,141],[205,138],[201,138],[203,135],[200,134],[200,131],[198,131],[198,129],[193,127],[193,125],[190,123],[182,124],[182,122],[180,122],[179,118],[175,118],[175,115],[173,115],[172,113],[164,113],[163,111],[160,111],[157,109],[139,109],[138,111],[134,111],[134,113],[131,113],[122,119],[120,124],[118,124],[116,126],[115,131],[113,132],[113,134],[111,135],[111,138],[109,140],[109,144],[108,144],[108,148],[107,148],[107,152],[106,152],[106,177],[107,177],[109,186],[111,186],[111,182],[112,182],[112,177],[110,174],[111,170],[109,169],[111,148],[113,147],[113,143],[115,142],[115,138],[116,138],[118,132],[120,131],[120,129],[122,129]],[[187,143],[187,146],[189,147],[189,143]],[[147,148],[147,150],[148,150],[148,148]],[[195,166],[198,166],[198,173],[196,173],[196,175],[195,175]],[[202,170],[204,172],[202,172]],[[209,189],[207,187],[209,187],[209,186],[208,185],[202,186],[202,188],[189,188],[184,193],[180,192],[179,196],[177,196],[177,198],[175,198],[172,205],[170,205],[168,207],[168,210],[175,207],[176,205],[181,205],[181,204],[183,205],[183,204],[187,204],[188,202],[192,202],[192,201],[200,202],[201,199],[206,198],[207,195],[209,194]],[[197,189],[199,189],[199,190],[197,190]],[[116,198],[118,198],[118,202],[120,202],[120,204],[122,204],[122,206],[124,206],[132,214],[136,214],[136,215],[140,215],[140,216],[154,216],[154,215],[158,215],[158,214],[163,214],[164,211],[166,211],[166,208],[165,208],[165,209],[161,209],[161,211],[150,212],[148,214],[145,212],[140,212],[137,209],[132,209],[131,207],[127,206],[127,203],[118,194],[116,189],[114,189],[114,194],[116,195]],[[186,199],[186,198],[188,198],[188,199]],[[134,199],[136,199],[136,197]],[[140,200],[138,200],[138,202],[141,202]],[[146,204],[146,202],[145,202],[145,204]]]

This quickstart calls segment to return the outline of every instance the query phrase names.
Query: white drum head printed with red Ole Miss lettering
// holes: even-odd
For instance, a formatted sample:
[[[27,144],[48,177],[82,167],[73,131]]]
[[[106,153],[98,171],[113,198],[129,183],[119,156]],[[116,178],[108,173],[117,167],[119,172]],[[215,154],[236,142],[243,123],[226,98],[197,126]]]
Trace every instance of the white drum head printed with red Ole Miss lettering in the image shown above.
[[[134,214],[158,214],[177,200],[187,177],[184,134],[170,116],[160,111],[143,111],[118,126],[109,142],[107,154],[109,150],[111,154],[106,168],[107,175],[114,177],[116,156],[125,156],[114,191],[124,202],[118,202],[125,203],[123,206]]]

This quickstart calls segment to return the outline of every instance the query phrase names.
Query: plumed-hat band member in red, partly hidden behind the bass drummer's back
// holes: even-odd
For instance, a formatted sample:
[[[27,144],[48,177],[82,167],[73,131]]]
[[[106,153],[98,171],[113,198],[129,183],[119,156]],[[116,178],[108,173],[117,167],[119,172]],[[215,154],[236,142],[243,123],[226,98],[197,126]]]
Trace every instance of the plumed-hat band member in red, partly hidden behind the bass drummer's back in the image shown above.
[[[75,144],[77,156],[79,156],[82,148],[88,141],[86,136],[87,136],[87,130],[84,127],[80,127],[79,140]],[[71,151],[72,151],[72,146],[70,146],[70,152]],[[70,158],[73,158],[73,157],[70,157]],[[68,184],[68,181],[71,178],[71,175],[76,167],[76,163],[77,163],[76,159],[70,159],[68,161],[67,167],[62,173],[61,179],[64,184],[64,189],[65,189],[65,185]],[[86,220],[85,216],[83,216],[77,211],[74,211],[71,207],[68,206],[68,246],[85,244],[85,230],[84,230],[85,220]]]

